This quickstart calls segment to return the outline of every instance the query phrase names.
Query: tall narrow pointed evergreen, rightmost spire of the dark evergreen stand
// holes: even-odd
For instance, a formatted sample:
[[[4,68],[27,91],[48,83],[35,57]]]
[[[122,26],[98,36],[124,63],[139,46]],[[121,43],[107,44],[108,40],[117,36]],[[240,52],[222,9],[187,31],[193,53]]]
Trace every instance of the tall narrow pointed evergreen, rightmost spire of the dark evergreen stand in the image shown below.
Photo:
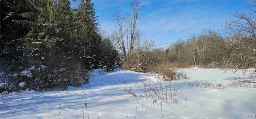
[[[100,51],[102,46],[100,35],[97,33],[97,17],[95,16],[94,4],[91,0],[80,0],[77,10],[77,28],[80,31],[80,50],[84,58],[85,67],[94,69],[100,67]]]

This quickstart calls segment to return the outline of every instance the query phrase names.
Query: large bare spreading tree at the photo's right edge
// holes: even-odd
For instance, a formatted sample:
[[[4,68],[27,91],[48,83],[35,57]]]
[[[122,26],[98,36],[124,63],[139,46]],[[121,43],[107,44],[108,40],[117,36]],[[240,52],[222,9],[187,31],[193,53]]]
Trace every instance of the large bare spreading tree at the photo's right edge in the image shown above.
[[[219,53],[222,68],[248,69],[254,68],[256,73],[256,1],[247,2],[249,12],[242,10],[234,13],[234,20],[225,20],[228,35],[222,42]]]

